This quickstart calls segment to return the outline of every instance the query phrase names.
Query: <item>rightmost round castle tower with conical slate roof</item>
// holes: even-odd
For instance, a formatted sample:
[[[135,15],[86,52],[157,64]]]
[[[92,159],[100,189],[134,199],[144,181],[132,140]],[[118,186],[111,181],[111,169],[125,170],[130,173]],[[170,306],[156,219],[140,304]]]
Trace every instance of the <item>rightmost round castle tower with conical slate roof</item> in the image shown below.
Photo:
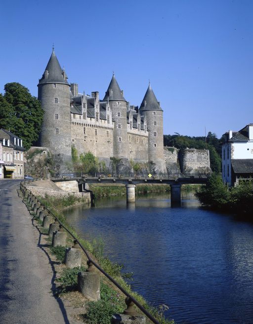
[[[150,84],[140,105],[140,114],[146,116],[148,129],[148,156],[153,170],[165,172],[163,110]]]

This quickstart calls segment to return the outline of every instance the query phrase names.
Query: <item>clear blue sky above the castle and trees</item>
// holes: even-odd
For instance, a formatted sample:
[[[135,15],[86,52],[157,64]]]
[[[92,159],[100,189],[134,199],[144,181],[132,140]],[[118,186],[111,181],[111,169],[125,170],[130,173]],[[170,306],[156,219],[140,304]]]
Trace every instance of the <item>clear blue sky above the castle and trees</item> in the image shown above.
[[[108,88],[113,71],[131,105],[150,80],[164,134],[221,137],[253,123],[252,0],[2,0],[0,93],[32,95],[54,44],[79,92]]]

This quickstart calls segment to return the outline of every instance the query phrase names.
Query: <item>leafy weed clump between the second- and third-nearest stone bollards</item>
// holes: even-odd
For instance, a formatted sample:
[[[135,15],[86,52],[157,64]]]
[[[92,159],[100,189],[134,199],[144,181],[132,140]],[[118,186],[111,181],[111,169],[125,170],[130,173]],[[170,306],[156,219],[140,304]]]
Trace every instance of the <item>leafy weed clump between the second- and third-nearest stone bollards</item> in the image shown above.
[[[72,269],[64,269],[61,277],[56,278],[55,280],[57,282],[60,282],[60,289],[61,292],[66,292],[69,290],[76,289],[77,286],[77,275],[79,272],[85,271],[86,269],[81,266],[81,267],[76,267]]]

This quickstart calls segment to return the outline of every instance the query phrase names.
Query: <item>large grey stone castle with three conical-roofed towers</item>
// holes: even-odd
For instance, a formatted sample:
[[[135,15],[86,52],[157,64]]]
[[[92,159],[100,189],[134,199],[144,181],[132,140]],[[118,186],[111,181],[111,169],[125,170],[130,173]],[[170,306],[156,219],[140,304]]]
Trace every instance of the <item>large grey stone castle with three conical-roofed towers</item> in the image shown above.
[[[114,74],[102,100],[98,92],[79,93],[77,84],[68,83],[53,49],[39,80],[38,99],[44,110],[40,145],[54,152],[61,172],[71,163],[72,145],[78,154],[93,153],[109,170],[112,158],[120,160],[122,172],[132,160],[148,165],[152,173],[167,174],[178,160],[164,149],[163,110],[150,84],[140,107],[127,102]],[[210,167],[209,151],[205,154],[201,168]],[[193,155],[196,160],[196,151]]]

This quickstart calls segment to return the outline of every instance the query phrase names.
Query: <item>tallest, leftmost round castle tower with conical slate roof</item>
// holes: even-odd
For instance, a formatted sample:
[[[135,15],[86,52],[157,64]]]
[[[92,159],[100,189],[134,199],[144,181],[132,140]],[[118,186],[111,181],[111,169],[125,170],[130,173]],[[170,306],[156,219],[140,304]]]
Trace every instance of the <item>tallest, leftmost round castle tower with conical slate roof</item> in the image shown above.
[[[54,49],[38,84],[38,99],[44,111],[40,144],[54,153],[60,172],[71,162],[70,85]]]

